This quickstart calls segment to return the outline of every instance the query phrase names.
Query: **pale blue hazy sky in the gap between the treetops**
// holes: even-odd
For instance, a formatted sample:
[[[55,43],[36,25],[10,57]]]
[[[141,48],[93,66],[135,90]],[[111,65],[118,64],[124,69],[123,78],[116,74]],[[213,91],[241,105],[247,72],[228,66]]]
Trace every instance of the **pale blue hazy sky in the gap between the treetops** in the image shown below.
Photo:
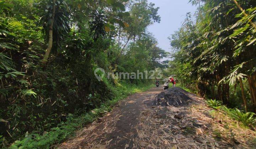
[[[148,31],[155,35],[160,48],[170,51],[171,46],[167,37],[181,27],[187,12],[194,14],[196,6],[188,4],[188,0],[148,0],[148,2],[160,7],[158,14],[161,17],[161,22],[148,27]]]

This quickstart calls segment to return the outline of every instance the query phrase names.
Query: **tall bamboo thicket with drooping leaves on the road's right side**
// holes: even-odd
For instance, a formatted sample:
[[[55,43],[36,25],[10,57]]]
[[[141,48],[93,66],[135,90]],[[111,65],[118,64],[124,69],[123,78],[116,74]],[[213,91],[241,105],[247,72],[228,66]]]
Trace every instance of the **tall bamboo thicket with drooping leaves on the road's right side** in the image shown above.
[[[201,96],[255,112],[255,0],[190,2],[198,11],[169,37],[174,60],[165,73]]]

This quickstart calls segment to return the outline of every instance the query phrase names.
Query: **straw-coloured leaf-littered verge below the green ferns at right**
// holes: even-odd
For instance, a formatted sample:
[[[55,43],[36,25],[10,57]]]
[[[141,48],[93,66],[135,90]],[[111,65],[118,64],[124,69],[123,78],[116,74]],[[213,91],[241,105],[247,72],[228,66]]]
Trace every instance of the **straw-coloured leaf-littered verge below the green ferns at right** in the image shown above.
[[[256,147],[256,132],[244,123],[227,116],[222,110],[212,110],[205,105],[194,105],[191,112],[192,117],[199,117],[209,125],[207,130],[200,133],[235,148]]]

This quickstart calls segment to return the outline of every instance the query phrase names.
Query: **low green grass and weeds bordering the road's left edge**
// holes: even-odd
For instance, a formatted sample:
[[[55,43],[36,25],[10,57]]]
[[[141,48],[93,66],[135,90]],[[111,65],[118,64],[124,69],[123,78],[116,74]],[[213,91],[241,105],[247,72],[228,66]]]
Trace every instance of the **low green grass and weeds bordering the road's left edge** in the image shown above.
[[[74,136],[75,130],[82,128],[89,122],[93,122],[102,116],[105,111],[111,111],[113,105],[119,100],[126,98],[130,94],[143,92],[153,87],[153,85],[117,83],[116,87],[112,87],[116,95],[114,99],[106,101],[99,108],[93,109],[89,113],[81,114],[80,116],[69,114],[66,122],[59,123],[58,127],[52,128],[50,132],[45,132],[43,135],[27,133],[24,139],[15,141],[10,148],[50,148],[54,144]]]

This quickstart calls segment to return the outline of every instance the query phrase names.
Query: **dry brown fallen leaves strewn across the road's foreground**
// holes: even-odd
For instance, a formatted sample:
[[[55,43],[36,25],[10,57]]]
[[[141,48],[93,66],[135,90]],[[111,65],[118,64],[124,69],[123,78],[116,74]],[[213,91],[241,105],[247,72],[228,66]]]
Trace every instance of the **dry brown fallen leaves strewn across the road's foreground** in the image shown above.
[[[185,101],[182,101],[185,102]],[[152,107],[152,108],[151,108]],[[120,107],[122,108],[122,106]],[[118,108],[119,109],[119,108]],[[137,110],[137,109],[135,109]],[[121,116],[126,118],[130,115],[117,113],[113,116],[98,118],[97,122],[93,123],[91,127],[84,129],[81,137],[78,137],[74,144],[65,143],[66,147],[79,146],[81,143],[86,142],[89,148],[114,148],[113,144],[121,143],[124,139],[132,141],[133,143],[123,142],[123,148],[253,148],[253,142],[247,142],[247,139],[255,137],[254,131],[236,126],[233,128],[235,137],[230,138],[230,126],[227,122],[231,122],[228,118],[220,115],[214,121],[207,114],[209,108],[205,105],[192,105],[192,106],[146,106],[141,110],[138,121],[139,124],[134,127],[137,130],[137,135],[129,133],[129,135],[120,136],[119,134],[111,138],[102,138],[104,134],[110,134],[117,128],[115,123]],[[92,111],[93,112],[93,111]],[[95,111],[94,111],[95,112]],[[104,111],[107,112],[107,111]],[[110,114],[111,112],[108,112]],[[105,115],[106,116],[106,115]],[[101,122],[101,123],[99,123]],[[127,126],[130,126],[127,122]],[[96,126],[102,127],[96,127]],[[224,127],[225,126],[225,127]],[[102,129],[98,129],[102,128]],[[218,134],[213,134],[214,130],[220,133],[220,140],[215,140]],[[92,131],[93,130],[93,131]],[[121,131],[121,130],[119,130]],[[220,132],[219,132],[220,131]],[[233,133],[232,132],[232,133]],[[134,138],[135,137],[135,138]],[[102,138],[99,140],[98,138]],[[111,139],[111,140],[110,140]],[[100,145],[98,145],[100,143]],[[251,143],[251,144],[250,144]],[[97,145],[96,145],[97,144]],[[102,145],[105,144],[105,145]]]

